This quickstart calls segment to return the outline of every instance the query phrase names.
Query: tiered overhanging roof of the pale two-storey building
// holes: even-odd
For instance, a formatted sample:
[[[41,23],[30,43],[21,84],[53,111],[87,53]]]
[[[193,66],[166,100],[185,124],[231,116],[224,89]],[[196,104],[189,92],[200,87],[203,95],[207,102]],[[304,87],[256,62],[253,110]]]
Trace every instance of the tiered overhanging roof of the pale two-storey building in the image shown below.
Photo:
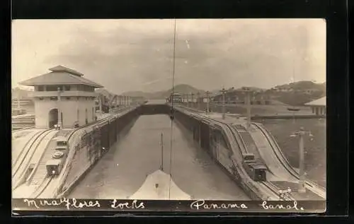
[[[26,81],[22,81],[19,84],[23,86],[39,86],[39,85],[86,85],[95,88],[102,88],[98,83],[90,81],[82,76],[84,74],[68,69],[64,66],[55,66],[49,69],[50,73],[45,73],[42,76],[30,78]]]

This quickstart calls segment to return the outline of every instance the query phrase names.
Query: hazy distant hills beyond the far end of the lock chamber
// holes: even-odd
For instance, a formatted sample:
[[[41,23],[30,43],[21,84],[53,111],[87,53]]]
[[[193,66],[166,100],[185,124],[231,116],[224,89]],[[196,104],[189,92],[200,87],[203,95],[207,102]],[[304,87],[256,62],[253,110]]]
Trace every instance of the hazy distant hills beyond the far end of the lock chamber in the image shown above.
[[[158,91],[154,93],[144,93],[141,91],[132,91],[132,92],[125,92],[122,93],[122,95],[130,95],[134,97],[144,97],[147,99],[151,100],[156,100],[156,99],[165,99],[167,98],[172,92],[172,88],[169,90],[163,90],[163,91]],[[200,93],[200,95],[205,94],[205,90],[198,90],[197,88],[194,88],[193,86],[187,85],[187,84],[179,84],[174,87],[174,93],[180,93],[180,94],[190,94],[190,93]]]

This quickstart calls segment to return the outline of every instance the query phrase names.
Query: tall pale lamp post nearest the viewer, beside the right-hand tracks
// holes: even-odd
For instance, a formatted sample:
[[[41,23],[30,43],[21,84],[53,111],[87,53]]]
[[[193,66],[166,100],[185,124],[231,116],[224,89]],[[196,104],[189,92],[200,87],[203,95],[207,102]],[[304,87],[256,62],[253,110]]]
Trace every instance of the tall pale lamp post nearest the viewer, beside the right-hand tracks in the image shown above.
[[[299,193],[305,193],[305,177],[304,177],[304,136],[312,137],[310,131],[304,131],[304,128],[301,127],[299,131],[291,134],[291,137],[299,136]]]

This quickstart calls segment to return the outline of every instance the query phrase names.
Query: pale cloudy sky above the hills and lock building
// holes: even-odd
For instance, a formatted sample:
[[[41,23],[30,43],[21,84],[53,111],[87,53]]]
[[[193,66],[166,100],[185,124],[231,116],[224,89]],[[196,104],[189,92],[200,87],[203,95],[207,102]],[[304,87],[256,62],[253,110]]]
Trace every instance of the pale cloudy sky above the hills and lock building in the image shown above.
[[[12,85],[67,66],[113,93],[172,86],[174,20],[14,20]],[[326,81],[320,19],[176,20],[175,83],[203,90]]]

